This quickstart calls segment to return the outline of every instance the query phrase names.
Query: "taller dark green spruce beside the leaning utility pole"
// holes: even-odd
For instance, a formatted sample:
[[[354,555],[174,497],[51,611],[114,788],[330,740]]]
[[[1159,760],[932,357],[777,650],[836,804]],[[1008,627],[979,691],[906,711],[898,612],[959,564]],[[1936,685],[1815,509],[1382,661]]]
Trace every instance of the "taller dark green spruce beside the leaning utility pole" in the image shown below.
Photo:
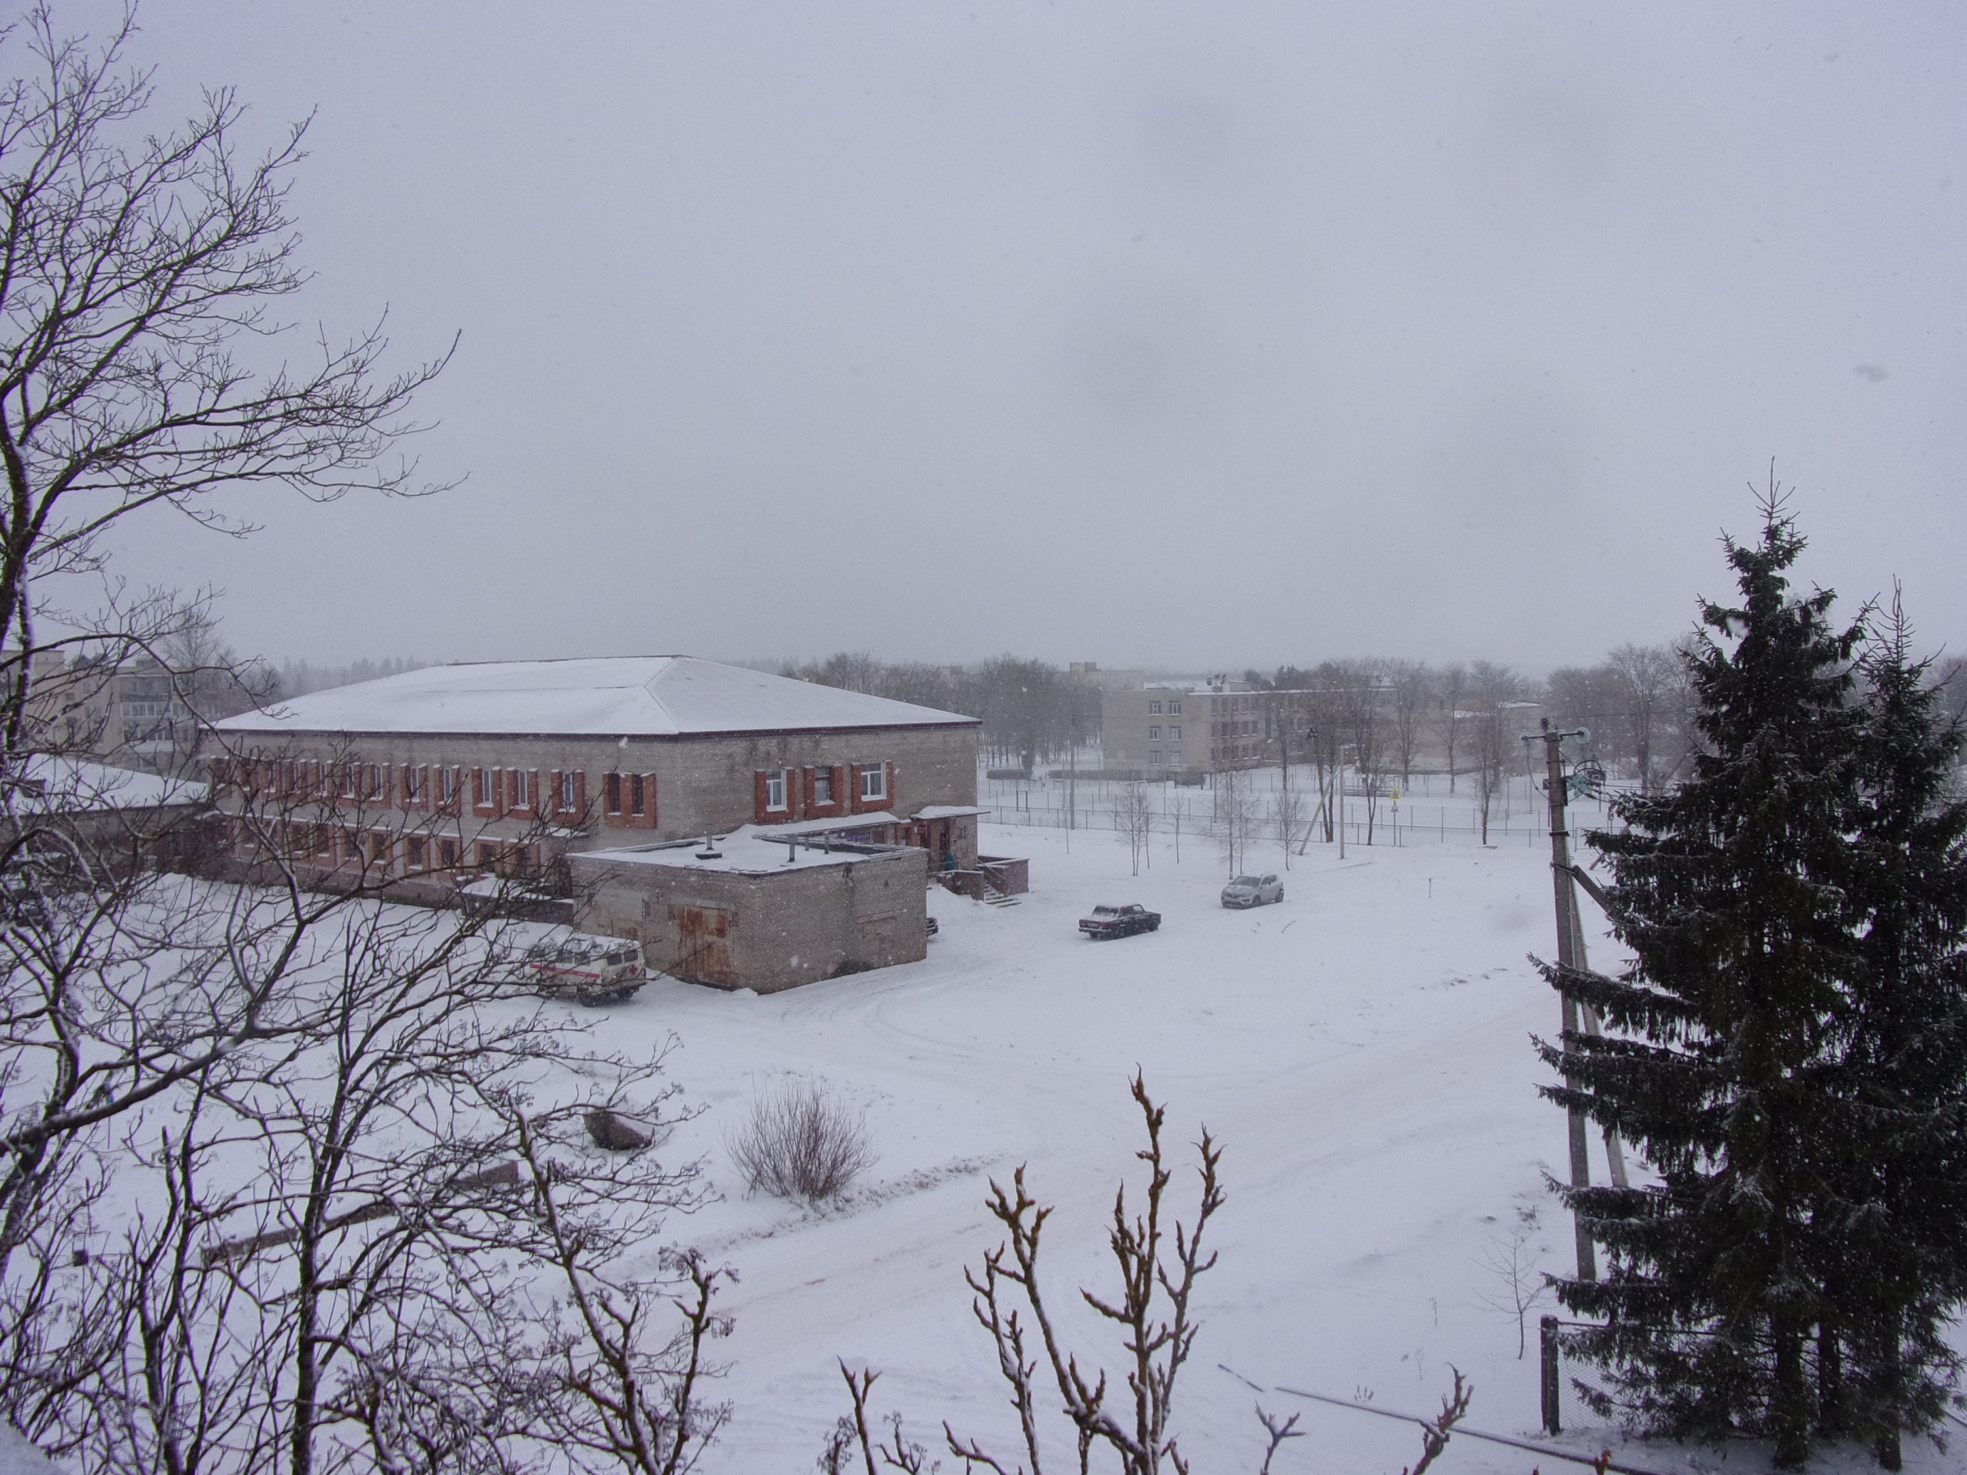
[[[1550,974],[1611,1032],[1540,1052],[1574,1082],[1544,1093],[1615,1127],[1658,1176],[1562,1190],[1607,1259],[1601,1280],[1558,1286],[1603,1322],[1578,1349],[1648,1426],[1764,1434],[1796,1465],[1816,1420],[1823,1066],[1857,966],[1863,629],[1831,627],[1829,592],[1792,598],[1804,539],[1774,488],[1762,513],[1760,541],[1727,543],[1739,606],[1703,606],[1686,657],[1705,751],[1676,789],[1627,798],[1623,832],[1591,836],[1633,966]]]

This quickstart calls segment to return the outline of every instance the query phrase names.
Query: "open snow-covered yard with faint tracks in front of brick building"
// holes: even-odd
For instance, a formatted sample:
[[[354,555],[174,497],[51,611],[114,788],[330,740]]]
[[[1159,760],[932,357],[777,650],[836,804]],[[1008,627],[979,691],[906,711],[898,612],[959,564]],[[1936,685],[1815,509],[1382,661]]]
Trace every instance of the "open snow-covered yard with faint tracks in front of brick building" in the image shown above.
[[[846,1408],[836,1357],[881,1369],[873,1408],[903,1410],[924,1444],[940,1444],[930,1436],[948,1418],[1015,1453],[964,1286],[964,1267],[999,1239],[985,1184],[1023,1162],[1035,1196],[1056,1206],[1044,1237],[1054,1308],[1072,1286],[1111,1288],[1103,1215],[1139,1166],[1135,1066],[1166,1103],[1172,1141],[1208,1123],[1225,1149],[1222,1263],[1202,1280],[1204,1328],[1176,1408],[1198,1469],[1255,1469],[1257,1394],[1243,1379],[1432,1414],[1454,1365],[1475,1385],[1471,1428],[1538,1438],[1536,1312],[1519,1359],[1515,1316],[1483,1304],[1509,1288],[1483,1261],[1507,1255],[1519,1223],[1538,1267],[1564,1270],[1570,1257],[1544,1190],[1564,1162],[1564,1121],[1534,1093],[1528,1044],[1558,1017],[1524,962],[1552,948],[1544,852],[1375,846],[1340,863],[1336,848],[1312,846],[1282,905],[1225,913],[1216,850],[1184,840],[1176,865],[1168,840],[1133,877],[1111,834],[1070,836],[1068,854],[1060,830],[985,826],[985,852],[1031,857],[1033,891],[1013,909],[932,893],[942,934],[924,964],[775,997],[661,981],[608,1013],[620,1046],[655,1048],[675,1031],[673,1074],[708,1107],[667,1149],[702,1152],[724,1192],[669,1231],[742,1274],[718,1390],[736,1418],[706,1469],[810,1469]],[[1273,846],[1245,869],[1277,867]],[[1162,928],[1084,942],[1074,920],[1100,901],[1141,901]],[[879,1162],[836,1211],[747,1200],[730,1168],[724,1135],[779,1072],[818,1074],[867,1109]],[[1194,1174],[1174,1192],[1192,1215]],[[1086,1316],[1070,1322],[1082,1353],[1117,1371],[1117,1341]],[[1302,1410],[1308,1434],[1279,1471],[1391,1475],[1418,1453],[1410,1426],[1261,1398]],[[1562,1440],[1603,1444],[1662,1475],[1723,1465],[1721,1451],[1627,1446],[1607,1430]],[[1566,1469],[1465,1438],[1440,1467],[1532,1465]],[[1764,1459],[1731,1449],[1725,1465]],[[1957,1465],[1922,1444],[1906,1467]]]

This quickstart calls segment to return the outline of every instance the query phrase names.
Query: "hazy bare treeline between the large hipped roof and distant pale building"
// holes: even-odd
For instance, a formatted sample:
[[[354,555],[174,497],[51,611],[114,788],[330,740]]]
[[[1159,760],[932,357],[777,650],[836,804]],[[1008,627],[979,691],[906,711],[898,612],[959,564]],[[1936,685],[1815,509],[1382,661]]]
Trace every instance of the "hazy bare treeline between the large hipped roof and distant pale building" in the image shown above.
[[[1100,688],[1044,661],[999,655],[974,667],[936,667],[840,651],[779,673],[980,718],[985,759],[1005,767],[1064,759],[1074,743],[1100,738]]]

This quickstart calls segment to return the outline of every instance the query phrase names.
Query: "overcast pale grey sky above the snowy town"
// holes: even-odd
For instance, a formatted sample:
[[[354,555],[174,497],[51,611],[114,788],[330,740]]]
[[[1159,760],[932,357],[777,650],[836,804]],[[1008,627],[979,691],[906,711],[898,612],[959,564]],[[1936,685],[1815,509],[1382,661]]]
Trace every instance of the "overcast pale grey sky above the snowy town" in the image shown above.
[[[242,649],[1589,661],[1770,456],[1967,641],[1957,4],[142,18],[173,108],[317,110],[301,317],[462,332],[458,490],[132,529]]]

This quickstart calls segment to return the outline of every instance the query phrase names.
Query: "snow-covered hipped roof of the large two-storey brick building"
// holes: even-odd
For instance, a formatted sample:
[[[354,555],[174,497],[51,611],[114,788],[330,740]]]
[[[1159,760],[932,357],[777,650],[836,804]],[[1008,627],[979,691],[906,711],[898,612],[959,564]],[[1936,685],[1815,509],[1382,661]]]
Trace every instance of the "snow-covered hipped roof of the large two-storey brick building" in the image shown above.
[[[677,738],[952,722],[974,724],[976,718],[690,655],[627,655],[425,667],[295,696],[214,726],[236,734]]]

